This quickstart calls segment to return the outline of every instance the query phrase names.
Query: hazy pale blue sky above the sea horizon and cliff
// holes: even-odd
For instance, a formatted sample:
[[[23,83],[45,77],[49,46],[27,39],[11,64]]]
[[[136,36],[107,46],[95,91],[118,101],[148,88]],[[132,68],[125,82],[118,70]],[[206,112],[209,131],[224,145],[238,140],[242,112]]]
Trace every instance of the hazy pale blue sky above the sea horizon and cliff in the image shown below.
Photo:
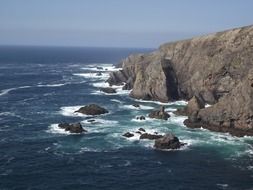
[[[0,0],[0,45],[145,47],[253,24],[252,0]]]

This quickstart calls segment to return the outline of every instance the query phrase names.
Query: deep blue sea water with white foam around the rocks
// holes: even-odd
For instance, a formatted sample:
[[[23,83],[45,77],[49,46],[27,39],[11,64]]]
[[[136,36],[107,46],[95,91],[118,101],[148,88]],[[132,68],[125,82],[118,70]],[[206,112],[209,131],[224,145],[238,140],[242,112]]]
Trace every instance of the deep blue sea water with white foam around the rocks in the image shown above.
[[[135,120],[159,108],[137,101],[117,87],[98,87],[113,64],[133,52],[126,48],[0,47],[0,189],[232,189],[253,188],[253,138],[188,129],[184,117]],[[102,76],[96,76],[102,66]],[[87,122],[74,114],[96,103],[109,114]],[[131,106],[141,105],[140,109]],[[165,104],[174,111],[184,101]],[[82,122],[84,135],[71,135],[60,122]],[[173,132],[188,145],[177,151],[153,149],[152,141],[122,134],[143,127]]]

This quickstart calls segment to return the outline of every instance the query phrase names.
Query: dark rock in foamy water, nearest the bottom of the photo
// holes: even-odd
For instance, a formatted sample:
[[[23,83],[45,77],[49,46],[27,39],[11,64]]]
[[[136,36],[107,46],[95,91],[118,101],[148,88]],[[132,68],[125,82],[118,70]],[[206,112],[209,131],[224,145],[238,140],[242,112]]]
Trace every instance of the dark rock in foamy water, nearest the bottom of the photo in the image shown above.
[[[154,147],[157,149],[179,149],[182,145],[176,136],[169,133],[156,139]]]

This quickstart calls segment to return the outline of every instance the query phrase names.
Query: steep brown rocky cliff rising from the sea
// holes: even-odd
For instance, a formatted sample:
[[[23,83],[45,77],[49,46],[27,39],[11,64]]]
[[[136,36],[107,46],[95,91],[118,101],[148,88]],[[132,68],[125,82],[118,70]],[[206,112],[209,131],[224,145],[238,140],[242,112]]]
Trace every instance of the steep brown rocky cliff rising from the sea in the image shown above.
[[[212,105],[187,113],[194,115],[188,126],[252,133],[253,26],[167,43],[155,52],[131,55],[121,66],[108,82],[125,83],[134,98],[168,102],[195,97]]]

